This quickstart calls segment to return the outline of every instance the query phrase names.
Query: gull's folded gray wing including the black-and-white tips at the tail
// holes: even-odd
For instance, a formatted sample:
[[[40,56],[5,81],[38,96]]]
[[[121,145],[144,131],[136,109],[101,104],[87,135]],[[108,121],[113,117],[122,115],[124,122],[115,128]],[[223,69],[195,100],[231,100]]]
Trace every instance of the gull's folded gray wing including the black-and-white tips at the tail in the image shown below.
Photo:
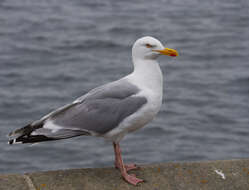
[[[125,79],[95,88],[40,120],[9,134],[9,144],[36,143],[80,135],[103,135],[138,111],[147,99]]]

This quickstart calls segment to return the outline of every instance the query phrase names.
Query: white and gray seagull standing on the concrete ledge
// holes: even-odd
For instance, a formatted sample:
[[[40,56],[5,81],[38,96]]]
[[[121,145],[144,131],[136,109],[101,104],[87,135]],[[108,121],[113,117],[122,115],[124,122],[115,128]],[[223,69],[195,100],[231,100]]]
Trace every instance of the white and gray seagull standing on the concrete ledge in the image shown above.
[[[178,56],[156,38],[138,39],[132,47],[133,72],[94,88],[74,102],[58,108],[39,120],[11,132],[8,144],[38,143],[76,136],[104,137],[113,143],[115,167],[123,179],[137,185],[144,180],[128,171],[138,169],[124,164],[119,142],[144,127],[159,112],[163,96],[163,76],[157,58]]]

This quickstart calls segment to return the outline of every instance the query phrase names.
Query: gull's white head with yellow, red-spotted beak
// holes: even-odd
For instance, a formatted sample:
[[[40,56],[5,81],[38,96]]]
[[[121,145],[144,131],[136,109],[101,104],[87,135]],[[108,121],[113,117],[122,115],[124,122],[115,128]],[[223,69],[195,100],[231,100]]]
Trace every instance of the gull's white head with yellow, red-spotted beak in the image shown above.
[[[178,53],[176,50],[165,48],[159,40],[150,36],[139,38],[132,47],[133,61],[155,60],[159,55],[178,56]]]

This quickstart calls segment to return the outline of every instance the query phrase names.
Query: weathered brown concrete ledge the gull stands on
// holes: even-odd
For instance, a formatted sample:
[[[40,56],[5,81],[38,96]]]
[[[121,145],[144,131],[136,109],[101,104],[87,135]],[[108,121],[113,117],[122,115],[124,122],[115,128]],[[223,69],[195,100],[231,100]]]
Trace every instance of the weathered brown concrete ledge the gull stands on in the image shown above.
[[[0,190],[249,190],[249,159],[166,163],[132,171],[146,182],[124,182],[114,168],[0,175]]]

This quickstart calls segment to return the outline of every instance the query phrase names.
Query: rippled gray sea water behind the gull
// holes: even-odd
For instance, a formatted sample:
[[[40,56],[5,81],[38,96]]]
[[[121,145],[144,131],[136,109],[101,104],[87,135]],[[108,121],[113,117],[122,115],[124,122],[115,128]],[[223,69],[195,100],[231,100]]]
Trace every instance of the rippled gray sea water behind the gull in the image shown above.
[[[7,145],[6,134],[132,71],[142,36],[161,57],[163,106],[121,142],[138,164],[249,157],[248,0],[1,0],[0,172],[113,165],[110,142]]]

